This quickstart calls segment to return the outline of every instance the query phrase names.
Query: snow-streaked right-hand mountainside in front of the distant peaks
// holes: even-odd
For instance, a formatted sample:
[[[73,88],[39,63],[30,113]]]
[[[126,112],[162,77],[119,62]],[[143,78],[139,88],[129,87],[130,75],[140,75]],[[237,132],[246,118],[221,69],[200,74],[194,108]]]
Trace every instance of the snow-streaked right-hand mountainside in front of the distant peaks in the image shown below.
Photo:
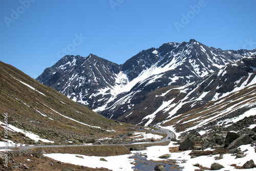
[[[198,124],[196,121],[205,121],[211,117],[214,119],[216,115],[225,115],[254,104],[255,70],[254,54],[195,82],[148,93],[136,108],[118,120],[139,125],[163,123],[174,125],[179,127],[177,131],[183,131],[185,125],[189,127],[189,122],[194,126]]]

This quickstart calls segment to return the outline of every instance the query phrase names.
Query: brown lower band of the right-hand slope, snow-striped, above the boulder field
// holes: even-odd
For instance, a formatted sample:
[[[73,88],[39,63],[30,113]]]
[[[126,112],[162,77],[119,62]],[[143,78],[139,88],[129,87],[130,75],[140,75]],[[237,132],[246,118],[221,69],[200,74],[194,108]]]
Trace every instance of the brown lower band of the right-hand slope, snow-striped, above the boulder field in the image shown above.
[[[231,93],[217,101],[211,101],[200,108],[181,114],[163,125],[173,125],[177,132],[181,132],[189,127],[202,124],[205,120],[210,122],[243,106],[249,106],[255,103],[256,89],[255,85],[253,85],[241,91]]]

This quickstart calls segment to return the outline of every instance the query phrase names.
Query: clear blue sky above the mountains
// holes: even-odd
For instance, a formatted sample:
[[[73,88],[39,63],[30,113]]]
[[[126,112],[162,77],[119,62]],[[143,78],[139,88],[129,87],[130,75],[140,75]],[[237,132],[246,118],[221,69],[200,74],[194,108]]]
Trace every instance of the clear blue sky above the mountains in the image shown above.
[[[118,64],[165,42],[256,48],[256,1],[0,1],[0,60],[33,78],[66,54]]]

